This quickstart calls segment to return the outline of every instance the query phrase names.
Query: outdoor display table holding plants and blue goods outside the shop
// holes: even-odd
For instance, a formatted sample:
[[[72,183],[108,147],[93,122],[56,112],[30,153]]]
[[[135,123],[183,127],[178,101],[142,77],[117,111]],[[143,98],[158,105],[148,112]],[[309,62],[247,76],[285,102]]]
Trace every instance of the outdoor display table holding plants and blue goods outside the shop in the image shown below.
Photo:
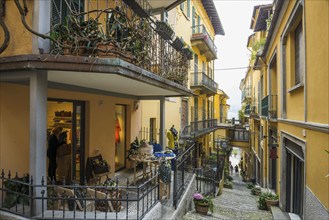
[[[170,156],[170,157],[165,157],[166,160],[172,160],[176,157],[175,156]],[[154,167],[155,167],[155,170],[157,170],[157,167],[158,167],[158,163],[160,161],[160,157],[158,157],[157,159],[155,160],[152,160],[150,159],[151,156],[146,156],[146,157],[141,157],[141,156],[130,156],[129,159],[131,159],[132,161],[134,161],[134,184],[136,185],[136,179],[137,177],[139,176],[143,176],[143,178],[147,177],[147,175],[149,173],[151,173],[152,175],[152,166],[154,164]],[[139,176],[136,176],[136,165],[137,165],[137,162],[141,162],[143,163],[143,174],[139,175]],[[146,172],[146,167],[147,167],[147,164],[150,164],[150,171],[149,172]]]

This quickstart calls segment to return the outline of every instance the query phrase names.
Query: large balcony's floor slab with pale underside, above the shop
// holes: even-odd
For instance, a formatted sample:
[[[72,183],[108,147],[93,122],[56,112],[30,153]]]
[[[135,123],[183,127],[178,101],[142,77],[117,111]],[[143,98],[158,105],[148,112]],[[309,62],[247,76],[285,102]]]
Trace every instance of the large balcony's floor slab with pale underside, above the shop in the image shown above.
[[[21,55],[0,58],[1,73],[24,70],[47,71],[49,87],[64,90],[134,99],[193,95],[186,87],[119,58],[60,55]]]

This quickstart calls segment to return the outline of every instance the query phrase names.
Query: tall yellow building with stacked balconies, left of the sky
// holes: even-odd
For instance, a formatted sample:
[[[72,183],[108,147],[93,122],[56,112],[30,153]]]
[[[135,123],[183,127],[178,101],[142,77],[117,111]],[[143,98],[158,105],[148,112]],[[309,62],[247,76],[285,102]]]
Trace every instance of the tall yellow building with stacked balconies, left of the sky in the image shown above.
[[[223,108],[226,115],[218,115],[218,118],[214,115],[216,111],[219,114],[220,108],[215,106],[214,96],[223,94],[223,92],[218,93],[218,85],[214,81],[214,60],[217,59],[214,38],[215,35],[224,35],[224,30],[215,6],[209,5],[213,5],[213,1],[188,0],[173,10],[163,11],[159,15],[161,19],[167,21],[175,30],[177,38],[192,52],[187,84],[194,96],[166,100],[166,129],[169,130],[174,125],[182,137],[191,138],[193,134],[200,156],[209,155],[214,141],[212,131],[215,130],[220,117],[227,116],[227,106]],[[209,19],[211,16],[214,18],[213,21]],[[153,101],[141,103],[145,109],[142,114],[145,120],[143,119],[142,124],[144,127],[149,127],[151,118],[157,115],[159,119],[160,116],[156,109],[149,107]]]

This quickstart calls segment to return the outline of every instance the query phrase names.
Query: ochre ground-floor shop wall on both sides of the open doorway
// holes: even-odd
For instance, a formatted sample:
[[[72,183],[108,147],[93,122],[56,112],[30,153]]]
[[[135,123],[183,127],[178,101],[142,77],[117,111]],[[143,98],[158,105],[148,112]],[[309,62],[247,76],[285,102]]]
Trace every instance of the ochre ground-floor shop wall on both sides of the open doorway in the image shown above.
[[[28,172],[29,156],[26,155],[29,155],[29,87],[2,83],[0,91],[0,166],[19,173]],[[138,134],[139,130],[136,128],[141,125],[138,117],[140,112],[132,111],[130,107],[133,100],[53,89],[48,90],[48,98],[86,102],[86,157],[96,155],[96,149],[99,149],[114,171],[115,105],[127,106],[128,150],[132,139]],[[114,175],[114,172],[111,175]]]

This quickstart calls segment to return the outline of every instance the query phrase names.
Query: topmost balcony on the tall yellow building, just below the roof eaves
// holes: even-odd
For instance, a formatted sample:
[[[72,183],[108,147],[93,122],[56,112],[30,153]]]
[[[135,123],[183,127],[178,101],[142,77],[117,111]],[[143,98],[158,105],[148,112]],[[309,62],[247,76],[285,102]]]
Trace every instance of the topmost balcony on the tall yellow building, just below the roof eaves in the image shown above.
[[[217,48],[204,25],[192,27],[191,44],[200,50],[200,54],[205,56],[207,61],[217,59]]]

